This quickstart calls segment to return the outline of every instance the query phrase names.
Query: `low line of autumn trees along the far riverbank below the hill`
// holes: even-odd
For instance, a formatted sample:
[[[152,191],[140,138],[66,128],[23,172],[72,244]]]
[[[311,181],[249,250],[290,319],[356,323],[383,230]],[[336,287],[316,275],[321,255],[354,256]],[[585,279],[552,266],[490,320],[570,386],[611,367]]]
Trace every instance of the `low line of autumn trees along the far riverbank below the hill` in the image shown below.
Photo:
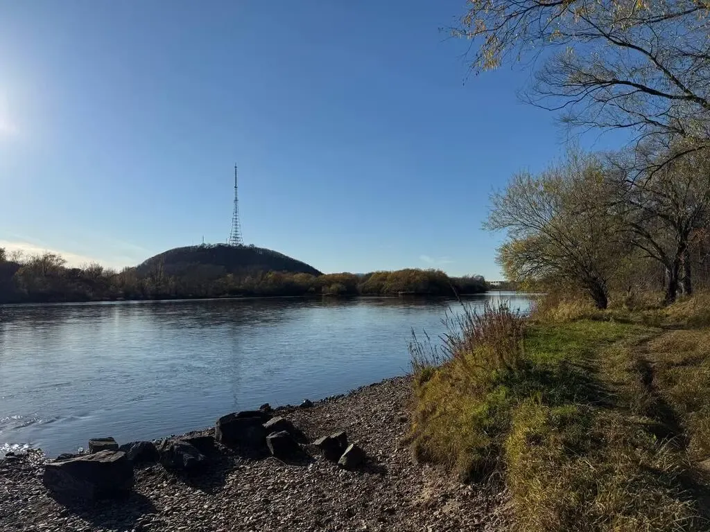
[[[170,275],[160,262],[147,271],[120,272],[92,262],[67,267],[56,253],[9,257],[0,248],[0,303],[189,299],[209,297],[356,296],[402,293],[454,297],[486,292],[484,277],[449,277],[438,270],[398,270],[366,275],[290,272],[226,273],[195,264]]]

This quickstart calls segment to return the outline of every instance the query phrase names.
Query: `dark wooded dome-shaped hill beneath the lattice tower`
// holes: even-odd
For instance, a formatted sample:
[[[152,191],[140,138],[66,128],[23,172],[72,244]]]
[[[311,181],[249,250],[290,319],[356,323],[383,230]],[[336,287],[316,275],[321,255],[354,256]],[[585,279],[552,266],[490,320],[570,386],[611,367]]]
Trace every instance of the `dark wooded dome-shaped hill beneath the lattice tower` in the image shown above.
[[[149,275],[162,267],[165,275],[185,275],[209,267],[219,273],[289,272],[321,275],[305,262],[253,245],[234,247],[226,244],[193,245],[174,248],[155,255],[136,267],[138,274]]]

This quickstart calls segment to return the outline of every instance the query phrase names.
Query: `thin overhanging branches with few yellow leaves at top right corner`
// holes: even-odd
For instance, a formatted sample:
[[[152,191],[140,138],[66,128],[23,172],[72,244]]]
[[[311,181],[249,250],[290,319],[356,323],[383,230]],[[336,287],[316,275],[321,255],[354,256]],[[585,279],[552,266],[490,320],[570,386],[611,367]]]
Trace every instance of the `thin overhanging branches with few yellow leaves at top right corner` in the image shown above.
[[[453,33],[474,40],[474,72],[544,57],[525,98],[564,111],[572,126],[690,139],[687,150],[709,145],[709,0],[468,4]]]

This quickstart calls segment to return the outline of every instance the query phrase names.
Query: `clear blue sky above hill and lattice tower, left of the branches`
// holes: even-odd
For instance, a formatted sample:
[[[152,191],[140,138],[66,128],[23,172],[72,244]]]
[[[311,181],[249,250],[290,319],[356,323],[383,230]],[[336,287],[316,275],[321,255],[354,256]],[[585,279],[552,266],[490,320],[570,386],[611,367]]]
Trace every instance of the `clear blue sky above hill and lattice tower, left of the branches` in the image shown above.
[[[224,242],[498,279],[488,195],[564,150],[464,0],[0,0],[0,246],[136,265]]]

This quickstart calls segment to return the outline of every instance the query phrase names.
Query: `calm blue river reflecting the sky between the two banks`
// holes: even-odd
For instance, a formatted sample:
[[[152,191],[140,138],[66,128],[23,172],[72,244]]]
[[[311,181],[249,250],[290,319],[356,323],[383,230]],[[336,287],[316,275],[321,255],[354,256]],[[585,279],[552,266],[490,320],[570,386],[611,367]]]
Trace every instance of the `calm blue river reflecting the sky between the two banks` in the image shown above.
[[[469,304],[525,294],[492,292]],[[204,428],[240,409],[322,399],[409,370],[415,331],[456,301],[223,299],[0,306],[0,451],[50,456]]]

